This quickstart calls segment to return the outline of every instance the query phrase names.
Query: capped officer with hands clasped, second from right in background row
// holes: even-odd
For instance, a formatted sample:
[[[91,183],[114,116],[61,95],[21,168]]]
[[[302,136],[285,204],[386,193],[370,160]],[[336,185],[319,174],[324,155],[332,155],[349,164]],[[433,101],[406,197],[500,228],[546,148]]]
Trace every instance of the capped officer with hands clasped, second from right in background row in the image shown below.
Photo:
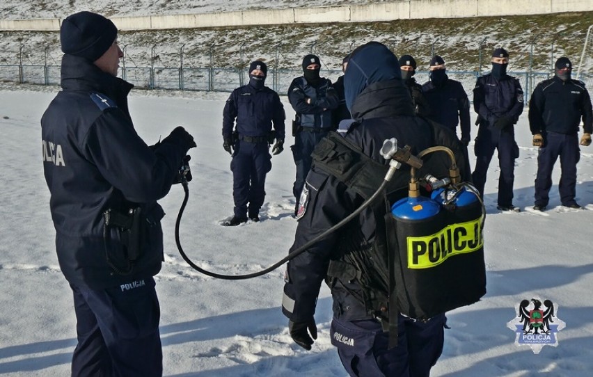
[[[492,52],[492,72],[477,79],[473,89],[473,108],[479,125],[475,138],[475,170],[473,183],[484,198],[484,186],[490,160],[498,150],[500,176],[498,205],[500,211],[516,211],[513,205],[515,159],[519,146],[515,142],[514,125],[523,112],[523,89],[519,79],[507,74],[509,53],[503,48]]]

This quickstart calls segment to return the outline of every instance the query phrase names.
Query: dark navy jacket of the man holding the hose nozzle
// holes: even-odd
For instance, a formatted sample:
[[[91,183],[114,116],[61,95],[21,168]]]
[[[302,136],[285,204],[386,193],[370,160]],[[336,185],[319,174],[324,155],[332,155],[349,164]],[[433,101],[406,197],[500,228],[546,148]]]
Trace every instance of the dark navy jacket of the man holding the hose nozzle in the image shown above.
[[[63,90],[43,114],[43,169],[51,193],[56,251],[65,278],[91,289],[115,287],[159,272],[163,258],[156,200],[171,189],[183,147],[148,147],[136,134],[127,107],[132,85],[102,72],[84,58],[65,55]],[[126,269],[125,244],[116,228],[104,239],[106,209],[141,207],[141,256]]]

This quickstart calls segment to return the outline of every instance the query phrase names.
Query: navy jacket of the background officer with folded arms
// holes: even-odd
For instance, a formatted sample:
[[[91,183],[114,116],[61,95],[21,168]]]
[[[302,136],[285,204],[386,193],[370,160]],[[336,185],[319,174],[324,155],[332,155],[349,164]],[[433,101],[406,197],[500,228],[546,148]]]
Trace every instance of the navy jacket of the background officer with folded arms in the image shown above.
[[[310,104],[306,98],[311,99]],[[288,100],[297,112],[301,126],[322,129],[333,127],[331,111],[338,107],[339,99],[329,79],[322,78],[313,86],[305,77],[297,77],[288,88]]]

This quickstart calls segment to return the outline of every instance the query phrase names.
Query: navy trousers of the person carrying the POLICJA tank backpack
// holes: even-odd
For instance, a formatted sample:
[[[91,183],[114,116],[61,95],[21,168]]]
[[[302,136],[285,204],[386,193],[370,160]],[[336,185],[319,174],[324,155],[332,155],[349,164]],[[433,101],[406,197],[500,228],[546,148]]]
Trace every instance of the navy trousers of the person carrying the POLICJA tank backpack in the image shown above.
[[[334,318],[331,343],[352,377],[428,377],[443,352],[445,321],[445,314],[427,322],[400,315],[397,347],[388,349],[389,333],[379,321]]]

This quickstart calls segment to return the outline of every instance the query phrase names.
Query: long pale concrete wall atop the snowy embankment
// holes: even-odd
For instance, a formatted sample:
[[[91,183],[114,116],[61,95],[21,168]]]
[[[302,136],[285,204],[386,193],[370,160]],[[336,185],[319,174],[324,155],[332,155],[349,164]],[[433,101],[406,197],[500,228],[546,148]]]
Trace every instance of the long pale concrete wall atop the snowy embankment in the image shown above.
[[[374,22],[394,19],[539,15],[593,10],[593,0],[400,0],[359,6],[244,10],[116,17],[120,30],[197,29],[216,26]],[[57,31],[60,19],[0,19],[0,30]]]

